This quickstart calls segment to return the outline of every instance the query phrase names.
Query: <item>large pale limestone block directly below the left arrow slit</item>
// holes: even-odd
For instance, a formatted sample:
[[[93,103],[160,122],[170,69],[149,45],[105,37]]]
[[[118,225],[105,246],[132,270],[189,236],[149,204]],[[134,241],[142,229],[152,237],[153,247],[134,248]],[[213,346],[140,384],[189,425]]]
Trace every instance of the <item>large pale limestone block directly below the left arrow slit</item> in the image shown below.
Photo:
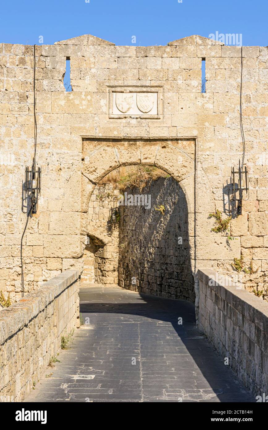
[[[93,97],[91,92],[53,92],[52,113],[92,114]]]

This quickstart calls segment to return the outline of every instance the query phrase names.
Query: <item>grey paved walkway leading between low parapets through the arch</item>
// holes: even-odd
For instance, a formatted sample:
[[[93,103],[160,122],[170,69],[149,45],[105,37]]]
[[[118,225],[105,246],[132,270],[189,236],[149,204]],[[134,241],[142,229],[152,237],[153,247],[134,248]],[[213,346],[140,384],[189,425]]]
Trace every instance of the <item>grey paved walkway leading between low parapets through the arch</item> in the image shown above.
[[[89,324],[25,401],[255,401],[196,329],[191,303],[91,286],[80,310]]]

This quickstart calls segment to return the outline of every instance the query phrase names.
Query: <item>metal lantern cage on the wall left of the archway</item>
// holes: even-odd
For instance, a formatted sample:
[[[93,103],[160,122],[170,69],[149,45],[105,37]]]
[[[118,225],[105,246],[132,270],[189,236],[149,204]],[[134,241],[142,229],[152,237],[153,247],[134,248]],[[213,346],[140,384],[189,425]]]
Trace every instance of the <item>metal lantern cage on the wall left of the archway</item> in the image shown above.
[[[34,163],[31,166],[25,167],[25,184],[24,198],[28,197],[31,200],[31,213],[37,213],[38,198],[41,193],[41,167],[35,167]]]

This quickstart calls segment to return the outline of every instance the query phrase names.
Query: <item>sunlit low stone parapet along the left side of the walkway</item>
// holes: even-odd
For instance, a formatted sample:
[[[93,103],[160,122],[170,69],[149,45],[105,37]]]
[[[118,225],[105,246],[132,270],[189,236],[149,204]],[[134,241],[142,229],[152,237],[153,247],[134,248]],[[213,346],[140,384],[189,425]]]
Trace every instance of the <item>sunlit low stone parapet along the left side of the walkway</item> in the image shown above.
[[[61,336],[79,327],[79,284],[79,271],[66,270],[0,311],[0,399],[24,399],[60,351]]]

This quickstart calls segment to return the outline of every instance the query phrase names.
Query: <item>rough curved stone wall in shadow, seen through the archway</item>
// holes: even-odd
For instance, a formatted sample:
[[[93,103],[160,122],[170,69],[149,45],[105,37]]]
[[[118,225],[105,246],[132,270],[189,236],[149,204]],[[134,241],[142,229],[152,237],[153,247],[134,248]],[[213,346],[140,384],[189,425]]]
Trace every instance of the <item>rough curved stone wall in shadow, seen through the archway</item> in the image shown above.
[[[135,205],[135,195],[146,204],[137,206],[136,197]],[[142,191],[127,189],[119,213],[119,286],[194,303],[188,209],[179,183],[159,178]]]

